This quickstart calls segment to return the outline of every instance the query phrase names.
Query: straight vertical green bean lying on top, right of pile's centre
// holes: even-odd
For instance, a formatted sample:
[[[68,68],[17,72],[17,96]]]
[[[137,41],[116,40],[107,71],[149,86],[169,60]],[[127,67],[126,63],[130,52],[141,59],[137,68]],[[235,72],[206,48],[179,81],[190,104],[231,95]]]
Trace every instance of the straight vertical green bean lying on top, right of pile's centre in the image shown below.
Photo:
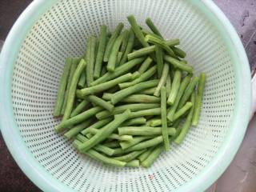
[[[161,87],[161,120],[162,120],[162,138],[163,138],[164,148],[165,150],[169,150],[170,142],[169,142],[169,130],[167,130],[166,87],[165,86]]]

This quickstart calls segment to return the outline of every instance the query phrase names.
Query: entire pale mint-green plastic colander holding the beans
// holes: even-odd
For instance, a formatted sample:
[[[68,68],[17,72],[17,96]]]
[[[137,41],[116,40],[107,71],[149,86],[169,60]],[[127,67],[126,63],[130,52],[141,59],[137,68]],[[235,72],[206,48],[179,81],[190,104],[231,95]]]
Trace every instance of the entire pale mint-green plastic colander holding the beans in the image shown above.
[[[200,122],[149,169],[102,165],[54,132],[58,83],[66,57],[106,24],[150,17],[166,38],[180,38],[195,74],[205,71]],[[18,166],[44,191],[202,191],[229,165],[250,116],[250,70],[238,35],[210,0],[37,0],[3,46],[0,117]]]

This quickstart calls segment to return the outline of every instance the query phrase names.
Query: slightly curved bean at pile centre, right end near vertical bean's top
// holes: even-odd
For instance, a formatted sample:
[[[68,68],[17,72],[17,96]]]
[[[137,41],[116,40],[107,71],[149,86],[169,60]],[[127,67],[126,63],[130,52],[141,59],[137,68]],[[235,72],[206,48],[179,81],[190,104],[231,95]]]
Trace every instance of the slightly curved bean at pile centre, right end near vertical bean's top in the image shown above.
[[[140,82],[137,85],[130,86],[126,89],[119,90],[115,94],[113,94],[113,98],[111,98],[111,102],[116,104],[120,102],[123,98],[126,98],[130,94],[134,94],[140,90],[146,90],[147,88],[154,87],[158,84],[158,80],[151,80],[147,82]]]

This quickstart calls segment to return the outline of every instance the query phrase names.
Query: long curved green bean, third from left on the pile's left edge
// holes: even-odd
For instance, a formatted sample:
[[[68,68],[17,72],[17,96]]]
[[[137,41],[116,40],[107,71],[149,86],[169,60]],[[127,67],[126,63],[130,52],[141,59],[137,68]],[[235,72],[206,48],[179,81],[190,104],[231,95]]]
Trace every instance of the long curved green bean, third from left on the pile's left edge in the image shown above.
[[[70,114],[71,114],[73,106],[74,106],[75,89],[78,85],[79,77],[85,68],[86,68],[86,61],[82,58],[78,64],[77,69],[74,71],[72,82],[70,84],[70,91],[68,93],[68,97],[67,97],[67,101],[66,101],[66,110],[64,112],[62,121],[65,121],[66,119],[70,118]]]

